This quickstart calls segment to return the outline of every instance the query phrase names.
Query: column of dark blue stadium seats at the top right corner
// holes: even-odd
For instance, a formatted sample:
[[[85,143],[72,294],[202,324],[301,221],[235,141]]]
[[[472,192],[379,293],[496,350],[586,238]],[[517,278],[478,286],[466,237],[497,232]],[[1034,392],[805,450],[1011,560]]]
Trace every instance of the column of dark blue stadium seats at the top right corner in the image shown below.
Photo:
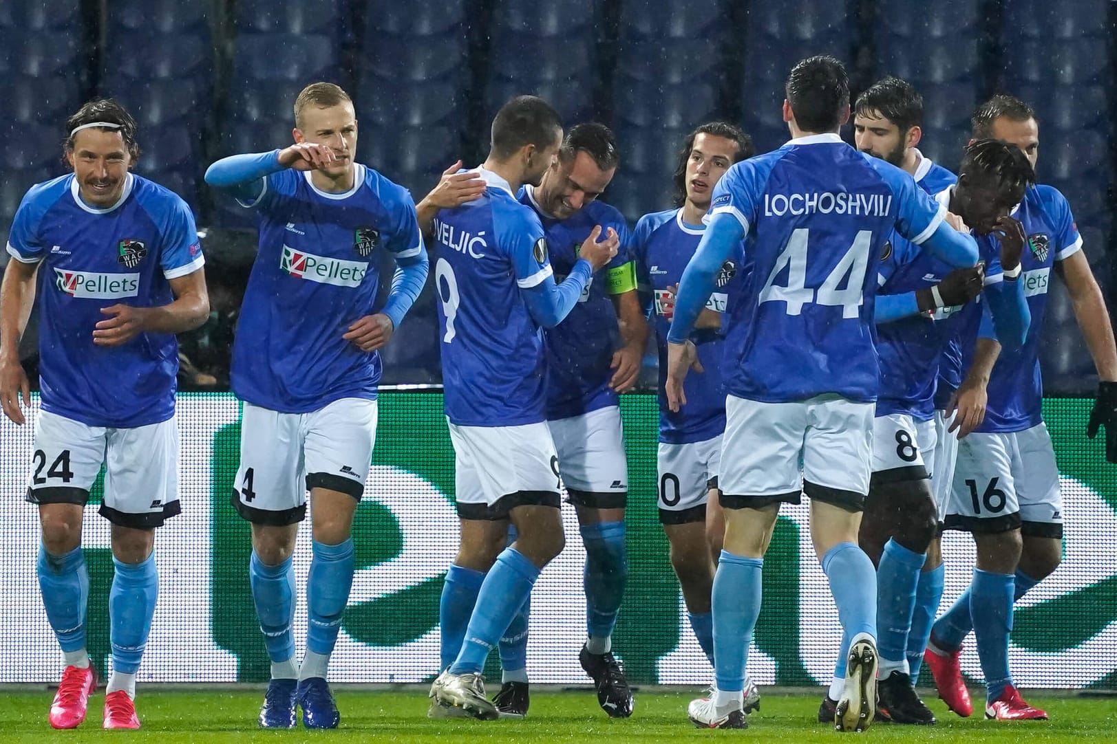
[[[1052,4],[1039,0],[1004,3],[1001,89],[1035,108],[1040,120],[1037,175],[1069,200],[1082,234],[1083,251],[1102,286],[1113,278],[1109,255],[1115,128],[1109,112],[1113,71],[1106,0]],[[1053,282],[1058,283],[1058,282]],[[1110,306],[1113,302],[1110,301]],[[1060,385],[1089,390],[1094,365],[1080,340],[1069,300],[1052,290],[1041,363]]]

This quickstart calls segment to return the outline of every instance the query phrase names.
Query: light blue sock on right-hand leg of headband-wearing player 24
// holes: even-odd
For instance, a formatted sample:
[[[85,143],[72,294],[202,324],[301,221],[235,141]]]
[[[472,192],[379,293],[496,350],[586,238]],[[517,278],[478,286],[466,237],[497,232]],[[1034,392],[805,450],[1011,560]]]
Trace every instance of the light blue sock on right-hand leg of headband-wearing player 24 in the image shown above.
[[[135,674],[147,646],[151,619],[159,597],[159,571],[155,554],[140,563],[124,563],[113,558],[116,572],[108,590],[108,640],[113,650],[113,670]]]

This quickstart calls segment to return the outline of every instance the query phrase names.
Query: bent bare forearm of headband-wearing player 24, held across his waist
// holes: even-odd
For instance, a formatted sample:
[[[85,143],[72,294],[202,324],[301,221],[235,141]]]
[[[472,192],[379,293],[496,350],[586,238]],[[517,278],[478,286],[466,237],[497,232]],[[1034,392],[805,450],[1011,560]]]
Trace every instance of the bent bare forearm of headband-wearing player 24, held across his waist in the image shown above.
[[[209,318],[209,292],[201,269],[169,280],[174,301],[154,308],[113,305],[102,308],[107,316],[94,327],[97,346],[122,346],[140,334],[182,334],[198,328]]]

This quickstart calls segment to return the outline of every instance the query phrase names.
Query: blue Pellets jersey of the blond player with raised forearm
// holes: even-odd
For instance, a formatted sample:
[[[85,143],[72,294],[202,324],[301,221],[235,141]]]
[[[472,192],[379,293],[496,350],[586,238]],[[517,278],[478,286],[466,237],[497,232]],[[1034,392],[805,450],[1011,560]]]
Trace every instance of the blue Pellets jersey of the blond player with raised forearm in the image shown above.
[[[376,250],[419,255],[422,238],[405,189],[355,164],[353,187],[318,190],[308,171],[268,175],[250,204],[259,252],[232,346],[232,390],[281,413],[340,398],[375,399],[381,361],[342,336],[374,311]]]

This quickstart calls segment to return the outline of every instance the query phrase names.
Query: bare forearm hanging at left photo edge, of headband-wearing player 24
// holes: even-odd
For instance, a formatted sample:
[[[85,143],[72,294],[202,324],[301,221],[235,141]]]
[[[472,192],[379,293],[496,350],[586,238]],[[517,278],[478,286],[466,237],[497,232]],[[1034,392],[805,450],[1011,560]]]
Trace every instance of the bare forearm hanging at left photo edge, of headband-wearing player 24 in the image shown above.
[[[4,415],[17,424],[25,423],[19,408],[31,405],[31,386],[23,365],[19,363],[19,339],[27,328],[35,305],[35,277],[39,263],[25,263],[12,259],[0,283],[0,406]]]

